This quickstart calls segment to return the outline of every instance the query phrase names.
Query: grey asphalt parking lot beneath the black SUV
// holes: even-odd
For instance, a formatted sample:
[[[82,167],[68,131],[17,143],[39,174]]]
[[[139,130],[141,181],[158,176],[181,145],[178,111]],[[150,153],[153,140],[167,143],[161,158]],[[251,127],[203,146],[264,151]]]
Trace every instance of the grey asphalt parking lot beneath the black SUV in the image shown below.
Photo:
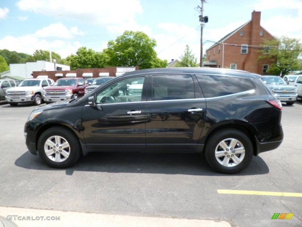
[[[0,104],[2,213],[17,207],[302,226],[301,100],[283,106],[281,146],[236,175],[213,172],[200,154],[179,153],[94,153],[72,168],[52,169],[25,146],[23,127],[34,108]],[[294,215],[271,219],[274,213]]]

